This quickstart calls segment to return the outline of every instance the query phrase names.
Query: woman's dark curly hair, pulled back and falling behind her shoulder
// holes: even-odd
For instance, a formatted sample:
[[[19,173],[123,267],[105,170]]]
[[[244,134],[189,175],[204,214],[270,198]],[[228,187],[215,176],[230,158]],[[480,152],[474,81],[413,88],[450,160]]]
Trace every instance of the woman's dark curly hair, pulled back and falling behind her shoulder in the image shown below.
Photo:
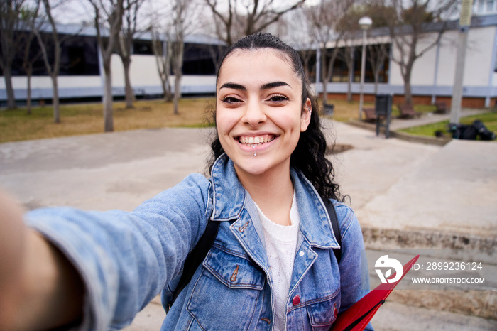
[[[278,50],[284,55],[282,58],[292,65],[293,70],[302,81],[302,112],[304,111],[304,104],[307,98],[311,100],[312,109],[314,110],[307,130],[300,133],[297,147],[295,147],[295,150],[290,157],[290,165],[302,171],[322,197],[331,197],[335,200],[343,201],[344,198],[340,195],[339,185],[333,182],[333,165],[325,157],[327,142],[324,138],[320,124],[320,116],[317,112],[316,97],[310,91],[309,82],[305,79],[302,60],[300,60],[300,56],[295,49],[283,43],[283,41],[270,33],[255,33],[251,36],[242,38],[226,50],[221,65],[219,65],[216,82],[219,79],[219,72],[222,70],[224,60],[233,53],[234,50],[256,50],[260,48]],[[215,107],[212,116],[215,121]],[[212,156],[209,161],[209,171],[212,170],[214,161],[224,153],[221,142],[219,141],[219,136],[217,136],[217,129],[212,139],[211,148]]]

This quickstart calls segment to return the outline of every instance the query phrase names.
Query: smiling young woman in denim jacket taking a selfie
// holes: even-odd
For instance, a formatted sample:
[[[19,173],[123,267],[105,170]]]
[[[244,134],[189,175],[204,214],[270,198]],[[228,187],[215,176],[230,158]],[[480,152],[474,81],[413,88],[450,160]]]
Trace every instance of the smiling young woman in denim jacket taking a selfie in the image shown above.
[[[133,212],[35,210],[24,216],[30,230],[6,205],[0,249],[26,248],[0,268],[0,291],[22,293],[0,299],[4,326],[120,328],[160,291],[166,307],[209,219],[217,237],[163,330],[328,330],[368,292],[361,229],[332,181],[297,52],[269,34],[243,38],[216,90],[209,179],[190,175]],[[339,264],[321,197],[337,212]]]

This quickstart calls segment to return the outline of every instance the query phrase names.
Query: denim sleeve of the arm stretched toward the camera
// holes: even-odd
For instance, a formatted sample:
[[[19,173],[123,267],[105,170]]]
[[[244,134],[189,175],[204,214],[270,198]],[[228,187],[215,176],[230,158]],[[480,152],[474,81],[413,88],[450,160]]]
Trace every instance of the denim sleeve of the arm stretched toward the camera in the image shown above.
[[[180,273],[209,218],[209,181],[190,175],[133,212],[46,208],[26,224],[67,256],[84,284],[82,330],[119,329]]]

